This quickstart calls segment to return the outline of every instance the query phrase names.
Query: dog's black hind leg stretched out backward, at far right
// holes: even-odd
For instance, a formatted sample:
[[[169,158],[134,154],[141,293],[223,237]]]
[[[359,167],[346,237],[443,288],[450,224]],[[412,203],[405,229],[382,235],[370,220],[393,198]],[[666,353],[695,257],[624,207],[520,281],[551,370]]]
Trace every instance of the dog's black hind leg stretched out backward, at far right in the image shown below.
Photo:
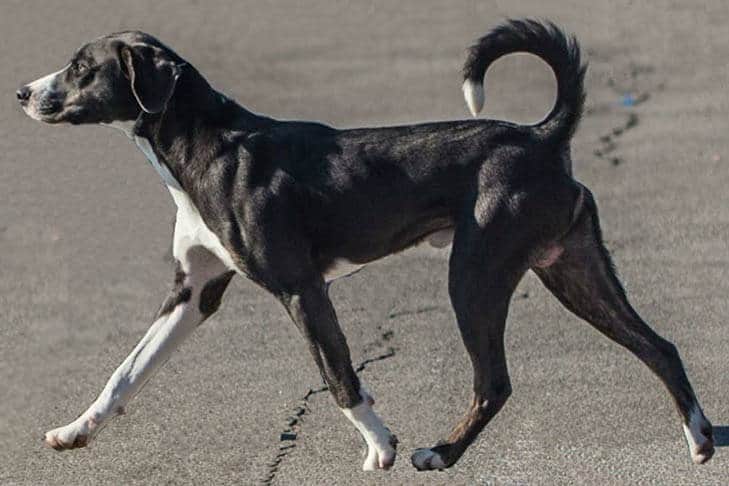
[[[549,266],[535,266],[547,288],[567,309],[626,347],[663,381],[683,419],[691,457],[701,464],[714,453],[712,428],[686,377],[676,347],[656,334],[628,302],[605,249],[597,207],[587,190],[575,225]]]

